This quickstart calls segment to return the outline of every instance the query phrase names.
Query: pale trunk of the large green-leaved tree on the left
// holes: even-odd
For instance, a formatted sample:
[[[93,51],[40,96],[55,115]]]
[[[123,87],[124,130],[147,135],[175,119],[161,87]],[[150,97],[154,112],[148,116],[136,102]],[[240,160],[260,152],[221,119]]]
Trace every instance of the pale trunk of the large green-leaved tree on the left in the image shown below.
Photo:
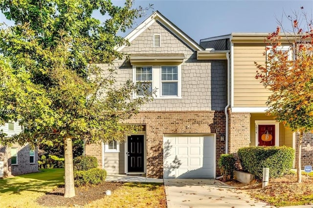
[[[73,171],[73,148],[72,138],[64,139],[64,163],[65,163],[65,192],[64,197],[71,198],[75,196],[74,171]]]

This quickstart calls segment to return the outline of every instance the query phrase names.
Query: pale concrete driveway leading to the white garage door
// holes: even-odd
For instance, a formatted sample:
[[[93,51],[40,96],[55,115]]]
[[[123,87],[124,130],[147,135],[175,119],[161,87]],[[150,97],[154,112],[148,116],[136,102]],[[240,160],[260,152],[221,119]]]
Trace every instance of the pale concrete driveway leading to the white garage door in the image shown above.
[[[168,208],[273,208],[215,179],[164,179]]]

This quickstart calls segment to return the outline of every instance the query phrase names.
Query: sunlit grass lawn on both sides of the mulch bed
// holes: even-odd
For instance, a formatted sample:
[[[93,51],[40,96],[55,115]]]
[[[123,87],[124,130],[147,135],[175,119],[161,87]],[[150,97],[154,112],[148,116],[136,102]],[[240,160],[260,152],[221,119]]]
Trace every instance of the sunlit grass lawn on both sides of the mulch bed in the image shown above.
[[[42,208],[36,200],[57,185],[64,184],[64,169],[41,169],[41,172],[0,179],[0,208]],[[86,208],[166,208],[163,184],[125,183],[110,197],[90,202]]]

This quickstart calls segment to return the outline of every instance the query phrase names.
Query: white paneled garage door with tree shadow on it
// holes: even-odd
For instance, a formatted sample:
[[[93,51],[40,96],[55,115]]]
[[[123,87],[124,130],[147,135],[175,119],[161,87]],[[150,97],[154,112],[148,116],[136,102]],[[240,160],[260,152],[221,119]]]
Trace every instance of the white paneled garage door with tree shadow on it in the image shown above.
[[[215,139],[206,136],[164,136],[164,178],[214,178]]]

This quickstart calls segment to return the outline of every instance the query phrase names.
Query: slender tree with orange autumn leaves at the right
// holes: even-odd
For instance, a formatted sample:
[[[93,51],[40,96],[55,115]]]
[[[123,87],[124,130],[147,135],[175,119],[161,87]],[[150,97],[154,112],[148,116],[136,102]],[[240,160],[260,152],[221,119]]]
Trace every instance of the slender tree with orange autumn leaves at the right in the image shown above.
[[[298,183],[301,183],[303,133],[313,130],[313,22],[303,7],[301,9],[302,12],[287,16],[292,24],[291,31],[284,30],[280,23],[277,30],[268,35],[269,45],[264,53],[266,65],[255,62],[259,69],[256,78],[272,92],[267,102],[268,114],[299,133]],[[290,50],[282,51],[282,44],[289,45]]]

